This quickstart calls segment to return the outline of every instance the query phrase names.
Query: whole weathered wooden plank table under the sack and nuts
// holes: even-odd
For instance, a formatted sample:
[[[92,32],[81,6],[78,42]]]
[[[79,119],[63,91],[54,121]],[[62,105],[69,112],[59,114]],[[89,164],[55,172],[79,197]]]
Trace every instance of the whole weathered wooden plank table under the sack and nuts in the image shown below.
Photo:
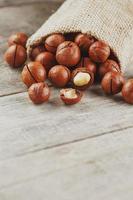
[[[99,86],[72,107],[51,88],[50,102],[34,106],[22,69],[3,60],[12,32],[31,35],[60,4],[0,1],[0,200],[131,200],[133,106]]]

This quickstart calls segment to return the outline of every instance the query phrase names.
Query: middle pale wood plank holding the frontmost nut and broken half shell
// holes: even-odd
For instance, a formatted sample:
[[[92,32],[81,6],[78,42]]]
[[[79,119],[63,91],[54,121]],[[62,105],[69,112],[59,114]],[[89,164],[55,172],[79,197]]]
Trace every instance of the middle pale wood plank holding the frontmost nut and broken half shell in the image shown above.
[[[72,107],[55,89],[41,106],[30,103],[27,93],[2,97],[0,113],[1,159],[133,127],[133,107],[119,96],[105,97],[98,86]]]

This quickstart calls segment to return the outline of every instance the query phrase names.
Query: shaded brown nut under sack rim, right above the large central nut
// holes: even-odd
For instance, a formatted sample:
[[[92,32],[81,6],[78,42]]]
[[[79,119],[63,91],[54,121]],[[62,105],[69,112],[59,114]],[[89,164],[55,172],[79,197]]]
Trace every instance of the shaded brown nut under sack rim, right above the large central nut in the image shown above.
[[[88,53],[89,48],[94,41],[94,37],[82,33],[78,34],[75,38],[75,43],[79,46],[82,53]]]

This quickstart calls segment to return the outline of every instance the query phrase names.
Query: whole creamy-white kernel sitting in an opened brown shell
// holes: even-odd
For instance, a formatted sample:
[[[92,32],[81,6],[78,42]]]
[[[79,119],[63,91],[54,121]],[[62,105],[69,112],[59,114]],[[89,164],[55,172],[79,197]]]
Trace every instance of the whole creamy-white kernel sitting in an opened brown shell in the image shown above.
[[[77,75],[74,77],[74,84],[76,86],[84,86],[87,85],[91,80],[91,76],[88,73],[85,72],[79,72]]]

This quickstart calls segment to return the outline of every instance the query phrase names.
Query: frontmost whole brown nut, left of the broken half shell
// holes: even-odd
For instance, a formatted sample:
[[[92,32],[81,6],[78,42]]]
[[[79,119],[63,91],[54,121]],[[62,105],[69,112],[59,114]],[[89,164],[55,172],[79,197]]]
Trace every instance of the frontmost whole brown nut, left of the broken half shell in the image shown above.
[[[48,101],[50,89],[46,83],[34,83],[28,89],[28,94],[34,104],[41,104]]]

